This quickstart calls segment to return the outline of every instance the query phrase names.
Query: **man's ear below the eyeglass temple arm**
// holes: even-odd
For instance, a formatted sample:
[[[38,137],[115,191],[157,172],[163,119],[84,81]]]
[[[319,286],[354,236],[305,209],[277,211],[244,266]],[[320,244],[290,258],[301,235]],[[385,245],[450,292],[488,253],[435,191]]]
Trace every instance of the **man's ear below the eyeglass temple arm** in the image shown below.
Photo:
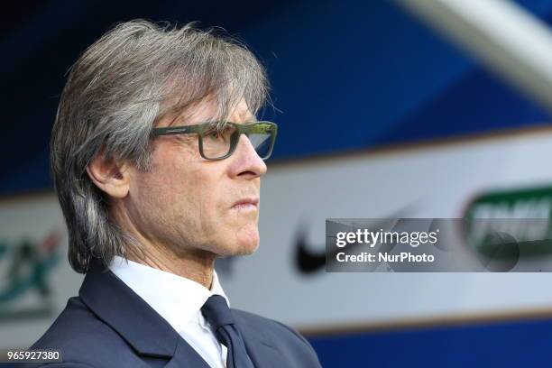
[[[88,177],[110,197],[124,198],[130,189],[130,172],[126,164],[106,158],[104,150],[87,166]]]

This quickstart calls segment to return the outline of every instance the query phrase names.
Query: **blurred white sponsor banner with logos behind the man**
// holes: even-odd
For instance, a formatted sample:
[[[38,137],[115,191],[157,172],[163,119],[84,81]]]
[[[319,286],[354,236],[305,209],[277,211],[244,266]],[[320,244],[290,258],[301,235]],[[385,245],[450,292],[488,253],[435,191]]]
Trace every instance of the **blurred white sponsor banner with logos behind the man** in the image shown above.
[[[223,287],[232,307],[306,329],[552,308],[550,273],[327,273],[319,263],[326,218],[460,217],[484,191],[552,186],[549,157],[552,131],[540,131],[274,164],[260,248],[217,263]],[[53,194],[0,201],[0,274],[0,348],[26,347],[82,281]]]

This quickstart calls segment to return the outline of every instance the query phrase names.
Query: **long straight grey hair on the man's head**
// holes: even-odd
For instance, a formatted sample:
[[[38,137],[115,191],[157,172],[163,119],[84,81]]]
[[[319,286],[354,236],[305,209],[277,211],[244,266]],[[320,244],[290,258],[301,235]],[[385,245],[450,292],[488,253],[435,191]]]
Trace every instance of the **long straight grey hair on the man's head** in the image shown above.
[[[88,47],[70,69],[51,133],[51,172],[69,230],[71,267],[83,273],[91,257],[108,264],[114,255],[140,250],[87,176],[99,152],[149,170],[152,128],[161,117],[206,97],[216,102],[216,120],[242,99],[255,115],[268,89],[251,51],[193,23],[120,23]]]

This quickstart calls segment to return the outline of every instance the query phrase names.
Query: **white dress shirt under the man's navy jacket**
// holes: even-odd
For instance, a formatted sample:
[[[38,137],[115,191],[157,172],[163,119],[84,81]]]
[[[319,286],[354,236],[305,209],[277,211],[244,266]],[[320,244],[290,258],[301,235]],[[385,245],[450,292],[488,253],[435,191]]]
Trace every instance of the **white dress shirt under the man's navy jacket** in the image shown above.
[[[213,270],[211,290],[196,281],[115,256],[109,269],[138,294],[213,368],[225,368],[227,349],[211,331],[201,307],[211,295],[228,298]]]

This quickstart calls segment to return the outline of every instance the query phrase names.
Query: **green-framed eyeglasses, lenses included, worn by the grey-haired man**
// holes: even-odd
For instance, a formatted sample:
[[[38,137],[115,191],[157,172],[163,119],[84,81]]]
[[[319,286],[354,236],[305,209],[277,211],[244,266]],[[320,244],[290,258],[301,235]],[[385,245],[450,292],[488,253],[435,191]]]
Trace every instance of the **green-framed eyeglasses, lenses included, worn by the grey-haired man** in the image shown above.
[[[255,122],[253,124],[203,123],[153,129],[153,136],[198,134],[199,154],[206,160],[223,160],[230,157],[234,153],[242,134],[249,138],[259,157],[266,160],[271,157],[276,141],[276,133],[278,133],[278,125],[271,122]]]

